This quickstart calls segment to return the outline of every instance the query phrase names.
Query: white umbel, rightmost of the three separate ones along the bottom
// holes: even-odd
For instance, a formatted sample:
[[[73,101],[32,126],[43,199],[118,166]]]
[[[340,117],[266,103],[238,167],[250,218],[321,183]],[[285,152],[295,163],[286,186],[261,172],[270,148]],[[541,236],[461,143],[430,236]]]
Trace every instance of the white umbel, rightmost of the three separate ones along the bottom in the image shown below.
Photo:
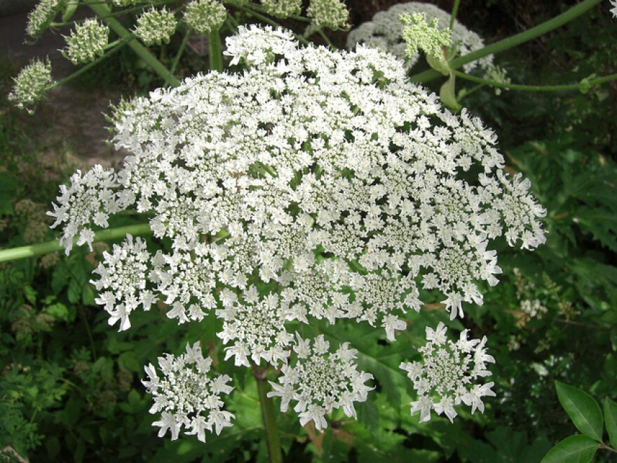
[[[437,330],[426,328],[428,342],[419,349],[423,361],[400,364],[414,382],[418,400],[412,402],[412,415],[420,412],[420,422],[430,420],[430,410],[438,415],[445,413],[452,422],[457,415],[454,407],[461,402],[470,406],[472,413],[476,409],[484,412],[482,397],[495,396],[493,382],[480,382],[491,375],[487,363],[495,362],[486,353],[487,338],[468,340],[468,330],[463,330],[459,340],[453,342],[446,333],[441,322]]]

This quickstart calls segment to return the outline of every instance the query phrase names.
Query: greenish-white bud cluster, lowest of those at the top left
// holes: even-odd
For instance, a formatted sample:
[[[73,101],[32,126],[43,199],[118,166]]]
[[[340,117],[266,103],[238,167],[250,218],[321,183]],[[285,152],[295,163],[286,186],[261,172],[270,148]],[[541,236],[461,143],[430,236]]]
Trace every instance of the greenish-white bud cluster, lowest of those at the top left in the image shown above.
[[[34,58],[24,67],[17,77],[13,77],[13,90],[8,94],[8,100],[15,102],[20,109],[36,105],[43,98],[47,88],[53,84],[51,63]],[[28,109],[33,112],[32,109]]]

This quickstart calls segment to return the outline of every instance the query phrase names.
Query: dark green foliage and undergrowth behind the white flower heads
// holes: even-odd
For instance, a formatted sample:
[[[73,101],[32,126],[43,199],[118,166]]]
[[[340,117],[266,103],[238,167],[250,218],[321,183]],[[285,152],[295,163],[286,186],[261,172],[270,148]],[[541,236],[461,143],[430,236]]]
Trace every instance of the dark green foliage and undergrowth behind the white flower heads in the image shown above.
[[[367,8],[371,3],[348,1],[351,19],[369,19],[375,10]],[[494,41],[574,3],[469,0],[461,2],[459,19]],[[449,7],[448,1],[435,4]],[[617,69],[617,22],[608,9],[604,2],[496,62],[517,83],[573,83],[590,74],[611,74]],[[332,39],[343,43],[344,34]],[[71,140],[40,136],[53,120],[38,114],[33,127],[34,119],[8,104],[10,77],[22,64],[0,58],[3,248],[53,239],[45,211],[57,184],[83,161],[71,156]],[[181,66],[188,74],[203,65],[191,55]],[[95,67],[76,83],[76,91],[93,92],[101,83],[126,95],[160,84],[130,53]],[[462,102],[496,130],[510,170],[529,177],[548,210],[547,243],[534,253],[503,243],[501,283],[485,288],[483,307],[466,310],[465,326],[449,323],[469,328],[471,337],[489,337],[497,397],[487,401],[484,415],[461,412],[463,419],[454,424],[440,417],[419,424],[417,415],[409,416],[412,388],[398,359],[411,357],[423,342],[424,327],[447,321],[447,314],[423,311],[421,321],[392,344],[366,326],[348,327],[345,340],[358,349],[360,367],[374,374],[377,389],[361,404],[358,422],[334,416],[324,434],[280,415],[289,461],[534,462],[576,431],[557,400],[554,380],[585,389],[599,401],[617,398],[617,85],[584,94],[509,90],[496,96],[481,89]],[[111,225],[130,223],[126,217]],[[188,328],[164,323],[161,307],[135,313],[128,332],[109,329],[88,283],[109,246],[97,243],[93,253],[81,249],[70,257],[0,264],[0,450],[10,445],[33,462],[266,459],[255,382],[240,368],[230,373],[236,384],[229,401],[236,415],[233,428],[208,436],[205,445],[195,436],[174,442],[156,437],[151,399],[140,383],[143,365],[163,351],[201,340],[216,367],[222,362],[221,348],[213,342],[219,327],[214,317]],[[337,339],[331,328],[320,328]],[[13,457],[6,452],[3,458]],[[597,458],[617,461],[606,451]]]

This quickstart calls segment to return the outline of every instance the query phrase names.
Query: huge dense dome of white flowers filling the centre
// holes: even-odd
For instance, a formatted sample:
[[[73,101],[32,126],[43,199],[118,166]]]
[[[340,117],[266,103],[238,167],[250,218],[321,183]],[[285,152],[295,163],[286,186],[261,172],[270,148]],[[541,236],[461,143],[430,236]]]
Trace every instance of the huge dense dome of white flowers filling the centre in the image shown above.
[[[491,130],[442,109],[390,55],[259,27],[226,53],[249,69],[118,109],[114,142],[133,154],[117,176],[76,175],[52,213],[67,249],[91,241],[90,220],[106,227],[133,203],[150,215],[172,249],[147,264],[147,290],[170,318],[201,320],[222,289],[268,283],[287,319],[355,318],[393,340],[421,289],[440,290],[452,318],[482,303],[477,283],[501,272],[491,239],[544,241],[544,211],[503,173]]]

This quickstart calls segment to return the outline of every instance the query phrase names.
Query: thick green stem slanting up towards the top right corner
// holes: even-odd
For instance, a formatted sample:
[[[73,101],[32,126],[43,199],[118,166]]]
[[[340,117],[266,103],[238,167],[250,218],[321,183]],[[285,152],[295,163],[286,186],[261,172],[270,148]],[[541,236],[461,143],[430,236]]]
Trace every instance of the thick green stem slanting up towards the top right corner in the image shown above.
[[[491,45],[480,48],[480,50],[476,50],[472,53],[468,53],[467,55],[463,55],[455,60],[452,60],[449,62],[450,68],[456,69],[462,65],[466,65],[468,62],[478,60],[487,55],[495,55],[496,53],[500,53],[501,51],[506,51],[509,48],[520,45],[520,43],[535,39],[537,36],[546,34],[547,32],[552,31],[552,29],[557,29],[557,27],[561,27],[571,20],[578,18],[578,16],[585,13],[585,11],[588,11],[590,8],[593,8],[599,4],[600,1],[602,0],[584,0],[580,4],[570,8],[568,11],[555,16],[555,18],[543,22],[541,25],[531,27],[531,29],[528,29],[525,32],[513,35],[507,39],[500,40],[499,42],[491,43]],[[412,76],[409,80],[412,82],[428,82],[433,79],[437,79],[441,75],[442,74],[434,69],[428,69],[427,71]]]

